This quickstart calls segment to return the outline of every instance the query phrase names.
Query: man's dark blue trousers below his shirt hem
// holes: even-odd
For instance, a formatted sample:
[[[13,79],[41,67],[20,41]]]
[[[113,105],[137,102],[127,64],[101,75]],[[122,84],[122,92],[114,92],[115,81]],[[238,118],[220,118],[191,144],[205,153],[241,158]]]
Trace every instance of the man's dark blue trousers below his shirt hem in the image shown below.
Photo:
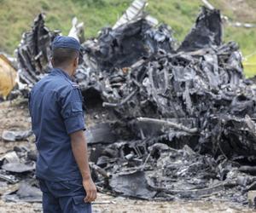
[[[38,180],[43,192],[44,213],[91,213],[91,204],[84,203],[86,193],[81,180]]]

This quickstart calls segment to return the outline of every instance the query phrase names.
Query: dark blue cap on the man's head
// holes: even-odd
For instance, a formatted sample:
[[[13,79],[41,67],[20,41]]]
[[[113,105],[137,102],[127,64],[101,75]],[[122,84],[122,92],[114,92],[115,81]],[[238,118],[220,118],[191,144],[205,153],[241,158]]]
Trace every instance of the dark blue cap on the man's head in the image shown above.
[[[51,45],[52,45],[52,49],[67,48],[67,49],[78,50],[78,52],[81,49],[80,43],[74,37],[57,36],[57,37],[55,37],[55,39]]]

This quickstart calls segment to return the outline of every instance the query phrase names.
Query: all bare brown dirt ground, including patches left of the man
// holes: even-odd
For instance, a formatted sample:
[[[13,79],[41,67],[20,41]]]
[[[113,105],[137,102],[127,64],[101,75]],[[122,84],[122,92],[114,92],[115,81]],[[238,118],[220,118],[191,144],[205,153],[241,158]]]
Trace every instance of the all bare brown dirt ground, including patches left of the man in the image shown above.
[[[0,103],[0,135],[3,130],[28,130],[30,129],[30,118],[26,107],[26,101],[15,100]],[[28,141],[5,142],[0,141],[1,154],[12,150],[15,146],[26,146],[35,148],[34,138],[30,137]],[[40,203],[13,203],[5,202],[0,199],[0,213],[30,213],[42,212]],[[135,199],[125,199],[122,197],[113,197],[107,194],[99,193],[96,203],[93,204],[93,212],[96,213],[130,213],[130,212],[147,212],[147,213],[252,213],[256,210],[250,210],[239,204],[232,204],[220,201],[172,201],[172,202],[153,202]]]

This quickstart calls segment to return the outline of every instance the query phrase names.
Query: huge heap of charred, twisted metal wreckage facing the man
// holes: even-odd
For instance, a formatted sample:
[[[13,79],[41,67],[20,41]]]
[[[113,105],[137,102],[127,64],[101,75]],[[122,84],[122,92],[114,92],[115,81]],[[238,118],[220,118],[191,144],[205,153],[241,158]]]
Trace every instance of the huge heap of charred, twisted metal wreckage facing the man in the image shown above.
[[[171,27],[138,14],[82,43],[74,80],[85,99],[96,185],[139,199],[246,204],[256,189],[255,86],[243,76],[238,45],[222,41],[219,11],[202,8],[178,48]],[[17,59],[28,90],[49,72],[58,33],[40,14],[23,36]],[[4,172],[10,168],[3,162]]]

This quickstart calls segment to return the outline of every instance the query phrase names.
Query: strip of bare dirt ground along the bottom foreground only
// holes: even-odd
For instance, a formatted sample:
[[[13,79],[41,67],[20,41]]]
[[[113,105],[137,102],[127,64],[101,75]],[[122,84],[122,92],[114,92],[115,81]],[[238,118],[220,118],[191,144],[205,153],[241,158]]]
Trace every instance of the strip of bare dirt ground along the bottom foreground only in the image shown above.
[[[253,213],[237,204],[221,203],[218,201],[175,201],[175,202],[150,202],[125,198],[113,198],[100,193],[96,204],[92,205],[94,213]],[[0,200],[1,213],[34,213],[42,212],[39,203],[6,203]]]

